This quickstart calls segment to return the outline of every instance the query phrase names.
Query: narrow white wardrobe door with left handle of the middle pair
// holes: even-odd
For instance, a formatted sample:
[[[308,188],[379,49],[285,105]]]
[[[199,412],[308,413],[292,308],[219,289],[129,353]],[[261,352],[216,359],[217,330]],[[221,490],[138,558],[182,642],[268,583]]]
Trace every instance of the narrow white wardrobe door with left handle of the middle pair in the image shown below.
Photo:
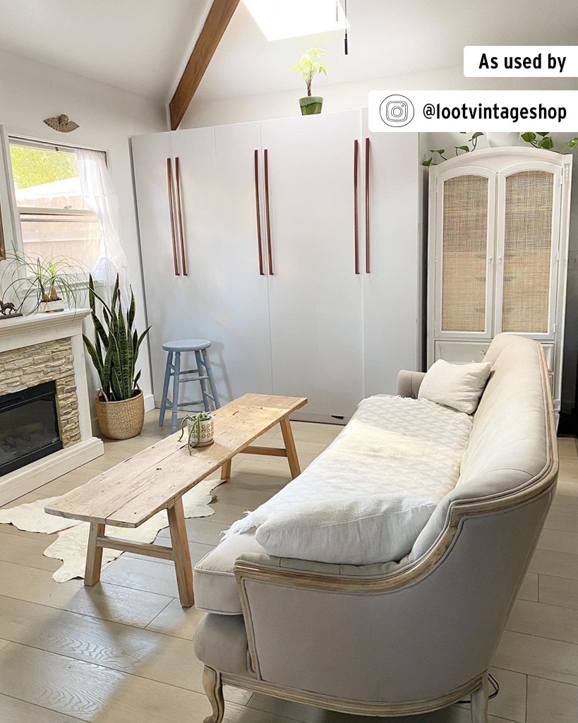
[[[272,393],[267,264],[262,234],[264,188],[261,128],[215,128],[221,283],[218,333],[227,395]],[[259,203],[259,205],[257,205]]]

